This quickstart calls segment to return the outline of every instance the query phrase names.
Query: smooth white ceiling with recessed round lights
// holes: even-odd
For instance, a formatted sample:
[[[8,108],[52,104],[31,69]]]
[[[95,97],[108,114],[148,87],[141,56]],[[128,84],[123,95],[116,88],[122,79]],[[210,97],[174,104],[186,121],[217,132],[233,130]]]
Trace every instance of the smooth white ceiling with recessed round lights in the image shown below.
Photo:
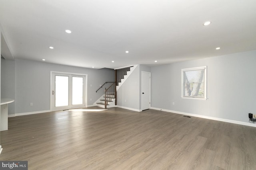
[[[15,59],[88,68],[256,50],[256,0],[0,0],[0,24]]]

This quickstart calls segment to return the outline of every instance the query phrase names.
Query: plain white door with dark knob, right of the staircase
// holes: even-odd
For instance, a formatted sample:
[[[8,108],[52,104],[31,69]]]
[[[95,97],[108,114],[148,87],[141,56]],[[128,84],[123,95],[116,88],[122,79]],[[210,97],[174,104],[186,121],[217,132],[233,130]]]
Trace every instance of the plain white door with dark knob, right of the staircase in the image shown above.
[[[141,72],[141,109],[150,108],[150,72]]]

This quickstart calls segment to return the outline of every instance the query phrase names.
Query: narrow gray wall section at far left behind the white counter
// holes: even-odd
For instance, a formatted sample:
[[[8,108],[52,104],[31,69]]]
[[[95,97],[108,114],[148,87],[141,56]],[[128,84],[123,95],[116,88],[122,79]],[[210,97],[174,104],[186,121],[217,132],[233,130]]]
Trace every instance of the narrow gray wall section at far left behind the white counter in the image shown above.
[[[15,62],[1,59],[1,98],[15,99]],[[8,114],[15,113],[15,101],[8,104]]]

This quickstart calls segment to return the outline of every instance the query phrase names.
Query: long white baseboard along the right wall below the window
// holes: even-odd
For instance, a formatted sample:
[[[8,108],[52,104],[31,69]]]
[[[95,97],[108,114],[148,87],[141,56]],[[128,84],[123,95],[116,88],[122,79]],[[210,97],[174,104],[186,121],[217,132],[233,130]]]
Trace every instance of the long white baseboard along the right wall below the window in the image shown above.
[[[181,112],[181,111],[174,111],[174,110],[168,110],[168,109],[160,109],[160,108],[156,108],[156,107],[151,107],[151,109],[161,110],[161,111],[166,111],[166,112],[171,112],[171,113],[177,113],[177,114],[181,114],[181,115],[200,117],[200,118],[216,120],[216,121],[224,121],[224,122],[234,123],[234,124],[238,124],[238,125],[245,125],[245,126],[256,127],[256,124],[249,123],[249,122],[247,123],[247,122],[243,122],[243,121],[235,121],[235,120],[230,120],[230,119],[222,119],[222,118],[218,118],[218,117],[210,117],[210,116],[204,116],[204,115],[197,115],[197,114],[193,114],[193,113],[185,113],[185,112]]]

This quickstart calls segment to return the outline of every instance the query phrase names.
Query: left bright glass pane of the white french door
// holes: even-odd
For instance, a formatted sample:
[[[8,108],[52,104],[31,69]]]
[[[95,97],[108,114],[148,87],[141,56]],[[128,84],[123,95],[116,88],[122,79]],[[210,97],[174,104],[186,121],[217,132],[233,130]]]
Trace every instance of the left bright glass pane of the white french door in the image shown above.
[[[55,107],[68,106],[68,76],[55,76]]]

